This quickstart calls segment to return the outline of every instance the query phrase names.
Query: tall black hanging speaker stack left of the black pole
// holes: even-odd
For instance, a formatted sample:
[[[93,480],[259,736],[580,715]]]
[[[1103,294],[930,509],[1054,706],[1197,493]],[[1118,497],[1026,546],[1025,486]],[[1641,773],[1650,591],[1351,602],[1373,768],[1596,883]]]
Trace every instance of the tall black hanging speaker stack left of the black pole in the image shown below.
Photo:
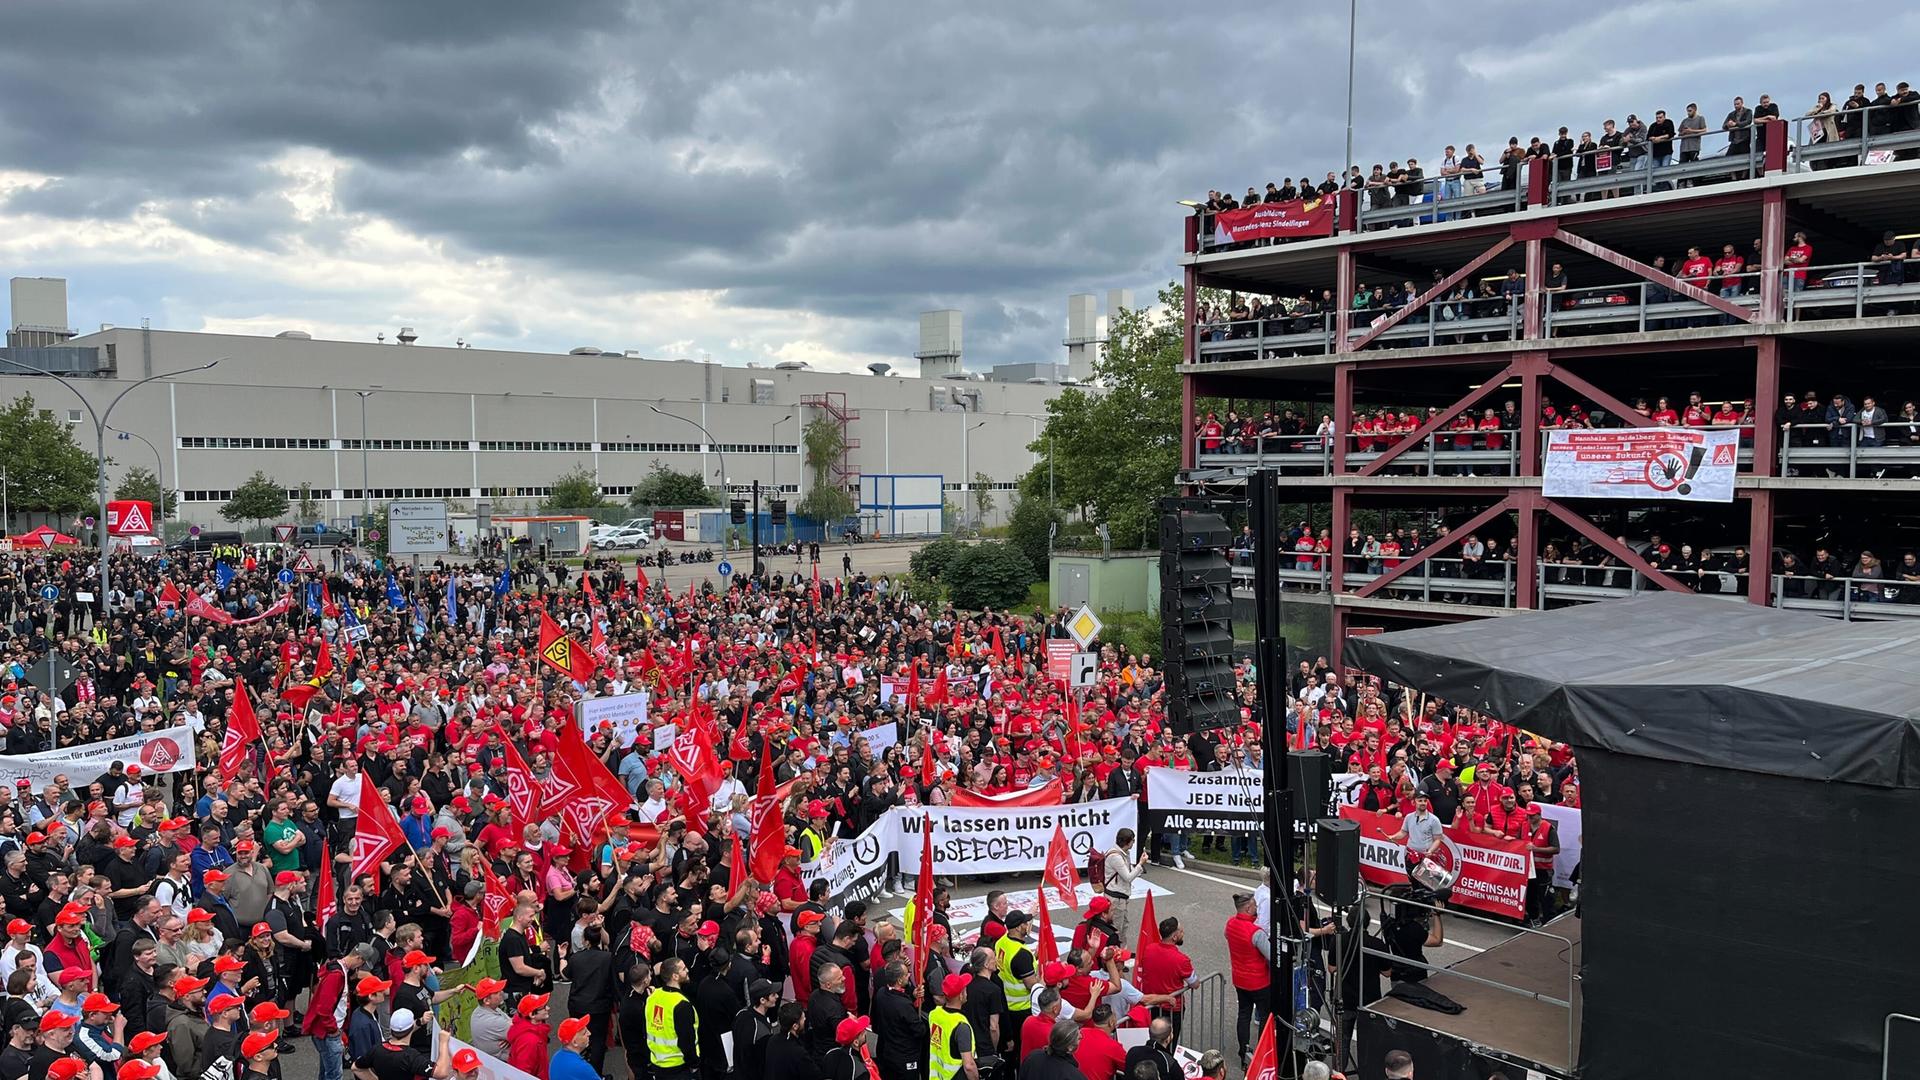
[[[1160,503],[1160,651],[1175,734],[1240,723],[1233,678],[1231,546],[1227,519],[1206,503]]]

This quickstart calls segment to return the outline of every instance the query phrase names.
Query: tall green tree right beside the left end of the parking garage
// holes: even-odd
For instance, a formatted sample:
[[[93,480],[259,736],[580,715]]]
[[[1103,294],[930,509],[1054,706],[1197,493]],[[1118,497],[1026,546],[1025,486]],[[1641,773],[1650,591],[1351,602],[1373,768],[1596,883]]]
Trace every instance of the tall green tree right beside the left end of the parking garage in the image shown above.
[[[1116,546],[1152,542],[1154,500],[1173,494],[1181,465],[1179,284],[1160,290],[1160,313],[1119,311],[1094,363],[1096,390],[1066,388],[1046,404],[1031,450],[1037,475],[1054,467],[1054,490],[1081,517],[1106,525]]]

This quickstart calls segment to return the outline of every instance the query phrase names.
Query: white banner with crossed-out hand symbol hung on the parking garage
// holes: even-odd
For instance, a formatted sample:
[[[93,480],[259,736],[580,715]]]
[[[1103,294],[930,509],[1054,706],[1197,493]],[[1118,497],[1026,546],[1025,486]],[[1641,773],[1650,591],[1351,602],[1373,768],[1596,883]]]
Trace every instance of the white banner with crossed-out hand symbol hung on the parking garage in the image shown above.
[[[1740,429],[1549,430],[1548,498],[1734,502]]]

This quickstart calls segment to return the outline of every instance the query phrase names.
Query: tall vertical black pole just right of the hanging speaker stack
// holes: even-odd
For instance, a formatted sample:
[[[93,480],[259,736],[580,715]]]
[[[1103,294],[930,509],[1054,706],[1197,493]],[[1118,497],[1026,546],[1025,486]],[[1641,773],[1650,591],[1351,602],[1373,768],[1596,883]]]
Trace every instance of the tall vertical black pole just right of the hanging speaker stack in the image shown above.
[[[1254,527],[1254,665],[1260,676],[1261,765],[1265,771],[1267,913],[1271,980],[1267,1011],[1281,1032],[1294,1030],[1294,955],[1284,938],[1298,938],[1294,909],[1294,799],[1286,778],[1286,640],[1281,636],[1281,484],[1273,469],[1248,480]]]

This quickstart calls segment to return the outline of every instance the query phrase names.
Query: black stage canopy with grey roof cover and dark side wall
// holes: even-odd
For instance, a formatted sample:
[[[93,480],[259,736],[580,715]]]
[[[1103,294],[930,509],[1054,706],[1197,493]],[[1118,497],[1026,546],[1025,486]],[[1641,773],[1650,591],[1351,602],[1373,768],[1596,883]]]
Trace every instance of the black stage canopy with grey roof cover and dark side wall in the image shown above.
[[[1880,1076],[1920,1015],[1920,621],[1661,594],[1344,655],[1578,748],[1582,1078]]]

